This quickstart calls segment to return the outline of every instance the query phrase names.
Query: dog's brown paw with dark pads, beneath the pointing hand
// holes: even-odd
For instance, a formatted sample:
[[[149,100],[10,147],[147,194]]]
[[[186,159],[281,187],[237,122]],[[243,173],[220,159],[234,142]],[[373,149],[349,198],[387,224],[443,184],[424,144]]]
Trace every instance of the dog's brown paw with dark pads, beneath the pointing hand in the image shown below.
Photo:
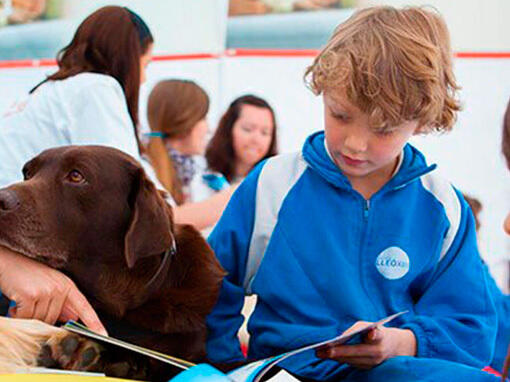
[[[74,333],[52,336],[41,348],[38,364],[65,370],[99,371],[104,348],[97,342]]]

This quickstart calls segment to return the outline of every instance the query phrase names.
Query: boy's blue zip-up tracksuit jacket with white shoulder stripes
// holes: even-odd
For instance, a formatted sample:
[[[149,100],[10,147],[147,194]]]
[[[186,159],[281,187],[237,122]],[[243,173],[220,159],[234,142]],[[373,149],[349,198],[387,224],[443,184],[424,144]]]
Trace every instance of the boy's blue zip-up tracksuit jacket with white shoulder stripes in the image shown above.
[[[497,320],[473,217],[434,170],[406,145],[398,172],[366,201],[330,159],[323,132],[254,169],[209,237],[229,273],[208,317],[209,358],[243,359],[240,310],[255,293],[250,358],[408,310],[390,326],[414,332],[417,357],[489,364]],[[283,366],[317,380],[345,373],[312,352]]]

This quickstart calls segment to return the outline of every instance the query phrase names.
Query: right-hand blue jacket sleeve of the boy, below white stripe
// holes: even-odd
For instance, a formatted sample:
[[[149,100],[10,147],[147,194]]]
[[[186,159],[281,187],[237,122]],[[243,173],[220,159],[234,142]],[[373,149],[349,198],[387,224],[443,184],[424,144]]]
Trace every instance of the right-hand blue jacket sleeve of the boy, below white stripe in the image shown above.
[[[497,317],[473,215],[458,192],[457,197],[461,218],[455,238],[422,289],[415,316],[402,327],[414,332],[418,357],[483,367],[491,361]]]

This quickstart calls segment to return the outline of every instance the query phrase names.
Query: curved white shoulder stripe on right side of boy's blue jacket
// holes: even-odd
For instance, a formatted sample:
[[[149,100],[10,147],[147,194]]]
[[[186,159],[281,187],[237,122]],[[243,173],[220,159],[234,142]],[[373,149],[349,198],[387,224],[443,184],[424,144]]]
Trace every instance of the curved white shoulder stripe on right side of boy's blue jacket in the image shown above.
[[[441,254],[439,256],[439,261],[441,261],[450,249],[459,230],[461,218],[460,200],[450,182],[436,172],[431,172],[422,176],[421,182],[423,187],[434,195],[438,202],[443,205],[446,217],[450,222],[450,228],[443,240],[443,247],[441,248]]]

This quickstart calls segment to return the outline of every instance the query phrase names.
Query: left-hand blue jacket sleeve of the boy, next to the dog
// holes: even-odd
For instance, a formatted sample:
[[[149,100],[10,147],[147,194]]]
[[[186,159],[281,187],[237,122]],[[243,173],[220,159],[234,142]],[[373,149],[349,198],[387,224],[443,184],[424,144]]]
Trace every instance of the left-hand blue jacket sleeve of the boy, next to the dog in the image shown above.
[[[244,360],[237,332],[243,323],[243,279],[253,232],[255,196],[260,164],[237,188],[221,219],[209,236],[209,244],[225,270],[218,302],[207,317],[207,356],[213,363]]]

